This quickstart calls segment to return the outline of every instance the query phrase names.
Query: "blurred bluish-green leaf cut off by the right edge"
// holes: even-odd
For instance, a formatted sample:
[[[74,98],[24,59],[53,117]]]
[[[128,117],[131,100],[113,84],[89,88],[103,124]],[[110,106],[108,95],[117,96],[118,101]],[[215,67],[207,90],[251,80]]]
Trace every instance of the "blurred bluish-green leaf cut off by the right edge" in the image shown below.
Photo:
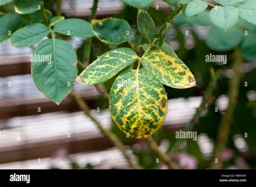
[[[256,33],[250,33],[245,36],[245,40],[241,45],[242,56],[248,61],[256,59]]]

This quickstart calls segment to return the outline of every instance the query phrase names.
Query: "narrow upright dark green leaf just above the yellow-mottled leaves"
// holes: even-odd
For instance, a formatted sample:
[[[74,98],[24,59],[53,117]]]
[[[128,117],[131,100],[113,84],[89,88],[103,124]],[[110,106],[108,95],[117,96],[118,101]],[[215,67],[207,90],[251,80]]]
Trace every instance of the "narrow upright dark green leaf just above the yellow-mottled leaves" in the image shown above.
[[[143,37],[149,42],[153,41],[153,34],[157,32],[157,29],[149,13],[139,9],[137,23],[139,31],[142,33]]]

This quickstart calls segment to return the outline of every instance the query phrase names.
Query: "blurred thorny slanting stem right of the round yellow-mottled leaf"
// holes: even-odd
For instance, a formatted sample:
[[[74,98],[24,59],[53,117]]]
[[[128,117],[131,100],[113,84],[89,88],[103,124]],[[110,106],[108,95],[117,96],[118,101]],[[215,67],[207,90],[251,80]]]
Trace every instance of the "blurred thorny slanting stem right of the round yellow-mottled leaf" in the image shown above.
[[[199,106],[199,108],[197,109],[196,113],[194,114],[193,118],[191,119],[191,121],[188,123],[188,125],[186,126],[186,128],[184,129],[185,131],[190,131],[194,128],[194,126],[196,126],[197,123],[199,123],[199,117],[200,114],[206,109],[208,108],[208,106],[211,105],[211,103],[214,101],[214,96],[212,96],[213,90],[214,88],[217,86],[217,82],[220,78],[221,72],[217,71],[216,73],[213,71],[213,69],[211,68],[211,75],[212,75],[212,79],[209,82],[206,91],[203,95],[203,99],[201,101],[201,104]],[[183,142],[185,141],[185,139],[178,139],[172,149],[170,150],[170,152],[172,153],[173,151],[176,151],[181,144],[183,144]]]

